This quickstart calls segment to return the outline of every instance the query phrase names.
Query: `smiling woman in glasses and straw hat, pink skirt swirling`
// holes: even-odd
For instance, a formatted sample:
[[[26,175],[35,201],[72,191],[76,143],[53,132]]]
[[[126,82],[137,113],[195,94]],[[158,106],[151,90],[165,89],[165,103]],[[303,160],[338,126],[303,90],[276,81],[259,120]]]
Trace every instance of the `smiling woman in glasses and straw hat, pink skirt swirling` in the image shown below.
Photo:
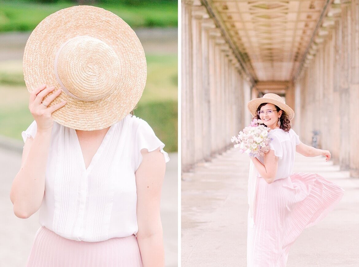
[[[276,94],[248,102],[251,114],[269,128],[270,151],[251,157],[248,180],[247,266],[286,266],[291,245],[322,220],[344,190],[315,173],[293,173],[294,156],[326,156],[303,144],[291,129],[294,111]]]

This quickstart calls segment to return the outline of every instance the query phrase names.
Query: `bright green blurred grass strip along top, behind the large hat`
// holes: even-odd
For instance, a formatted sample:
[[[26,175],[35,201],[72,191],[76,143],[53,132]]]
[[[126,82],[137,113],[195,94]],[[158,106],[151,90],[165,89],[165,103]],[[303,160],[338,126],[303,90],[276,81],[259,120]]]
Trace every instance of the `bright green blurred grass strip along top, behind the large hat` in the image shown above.
[[[139,4],[131,4],[131,1],[98,2],[102,3],[88,5],[111,11],[132,28],[177,27],[177,1],[137,1]],[[0,32],[32,31],[48,15],[74,5],[79,4],[75,1],[43,4],[36,1],[0,0]]]

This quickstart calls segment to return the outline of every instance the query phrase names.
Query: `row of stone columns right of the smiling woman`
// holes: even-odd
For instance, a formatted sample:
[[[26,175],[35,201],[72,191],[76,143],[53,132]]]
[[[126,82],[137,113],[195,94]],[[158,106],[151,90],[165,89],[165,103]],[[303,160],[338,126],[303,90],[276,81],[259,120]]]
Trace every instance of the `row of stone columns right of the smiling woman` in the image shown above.
[[[294,83],[302,141],[311,144],[320,131],[320,148],[359,177],[359,0],[342,1],[334,28]]]

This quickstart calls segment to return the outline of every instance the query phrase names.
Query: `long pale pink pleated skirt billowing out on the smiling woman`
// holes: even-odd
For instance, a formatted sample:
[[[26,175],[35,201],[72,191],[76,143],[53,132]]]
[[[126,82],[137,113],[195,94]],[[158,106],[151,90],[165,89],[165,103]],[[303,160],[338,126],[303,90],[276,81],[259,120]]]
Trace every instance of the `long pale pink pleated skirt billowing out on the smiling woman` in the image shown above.
[[[340,186],[316,173],[293,173],[271,184],[258,178],[247,267],[286,266],[289,248],[300,233],[321,221],[343,195]]]

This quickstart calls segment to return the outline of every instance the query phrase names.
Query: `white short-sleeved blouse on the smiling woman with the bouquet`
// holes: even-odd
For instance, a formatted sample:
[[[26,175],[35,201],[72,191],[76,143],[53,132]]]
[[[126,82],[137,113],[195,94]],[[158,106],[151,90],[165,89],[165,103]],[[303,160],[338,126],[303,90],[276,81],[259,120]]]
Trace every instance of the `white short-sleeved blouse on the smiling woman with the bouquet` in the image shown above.
[[[274,155],[278,156],[278,170],[274,180],[287,178],[293,173],[295,146],[300,144],[299,136],[290,129],[285,132],[281,129],[270,130],[268,137],[272,140],[269,147],[274,150]],[[263,157],[258,159],[264,163]]]

